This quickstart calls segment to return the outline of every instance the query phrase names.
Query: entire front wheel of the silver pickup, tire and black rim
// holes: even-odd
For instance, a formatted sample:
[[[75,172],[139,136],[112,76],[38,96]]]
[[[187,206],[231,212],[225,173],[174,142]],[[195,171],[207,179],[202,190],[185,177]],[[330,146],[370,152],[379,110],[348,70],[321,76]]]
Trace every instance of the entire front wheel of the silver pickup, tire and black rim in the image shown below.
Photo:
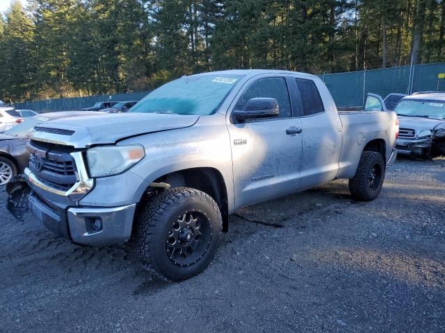
[[[216,202],[197,189],[164,189],[141,207],[136,254],[147,271],[179,281],[197,275],[213,259],[223,219]]]

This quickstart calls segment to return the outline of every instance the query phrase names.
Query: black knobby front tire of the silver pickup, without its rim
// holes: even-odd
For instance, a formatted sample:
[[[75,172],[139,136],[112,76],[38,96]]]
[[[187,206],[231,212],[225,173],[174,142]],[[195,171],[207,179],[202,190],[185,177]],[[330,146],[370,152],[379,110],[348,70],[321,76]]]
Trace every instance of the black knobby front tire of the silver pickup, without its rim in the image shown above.
[[[177,266],[168,257],[165,239],[172,223],[188,210],[199,210],[209,221],[207,252],[191,266]],[[143,267],[161,280],[180,281],[197,275],[213,259],[220,244],[223,219],[215,200],[197,189],[163,189],[142,204],[135,219],[134,248]]]

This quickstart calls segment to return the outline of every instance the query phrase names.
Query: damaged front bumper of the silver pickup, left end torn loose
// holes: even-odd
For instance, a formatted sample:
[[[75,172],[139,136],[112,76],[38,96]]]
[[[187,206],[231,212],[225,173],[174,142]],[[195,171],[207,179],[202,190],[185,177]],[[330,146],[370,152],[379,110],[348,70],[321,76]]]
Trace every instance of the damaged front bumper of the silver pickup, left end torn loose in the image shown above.
[[[27,170],[8,183],[7,207],[17,219],[30,210],[40,223],[58,236],[76,244],[120,244],[131,237],[136,203],[118,207],[85,207],[52,200],[44,184]]]

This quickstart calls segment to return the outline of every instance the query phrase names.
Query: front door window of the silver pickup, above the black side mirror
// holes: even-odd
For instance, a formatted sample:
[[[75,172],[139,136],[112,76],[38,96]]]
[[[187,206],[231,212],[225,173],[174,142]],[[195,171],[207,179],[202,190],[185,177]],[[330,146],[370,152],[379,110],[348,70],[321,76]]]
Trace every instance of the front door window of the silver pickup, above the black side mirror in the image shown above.
[[[254,98],[276,99],[280,108],[279,118],[292,117],[289,91],[284,78],[259,78],[243,92],[236,103],[236,110],[244,110],[248,101]]]

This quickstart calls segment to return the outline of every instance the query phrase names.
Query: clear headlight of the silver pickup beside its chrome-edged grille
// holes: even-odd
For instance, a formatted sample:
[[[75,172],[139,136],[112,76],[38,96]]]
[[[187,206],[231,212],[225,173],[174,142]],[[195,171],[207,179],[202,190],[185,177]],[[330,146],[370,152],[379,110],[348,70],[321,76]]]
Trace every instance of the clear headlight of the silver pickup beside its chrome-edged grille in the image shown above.
[[[117,175],[127,171],[145,156],[143,146],[99,146],[88,149],[88,167],[92,178]]]

